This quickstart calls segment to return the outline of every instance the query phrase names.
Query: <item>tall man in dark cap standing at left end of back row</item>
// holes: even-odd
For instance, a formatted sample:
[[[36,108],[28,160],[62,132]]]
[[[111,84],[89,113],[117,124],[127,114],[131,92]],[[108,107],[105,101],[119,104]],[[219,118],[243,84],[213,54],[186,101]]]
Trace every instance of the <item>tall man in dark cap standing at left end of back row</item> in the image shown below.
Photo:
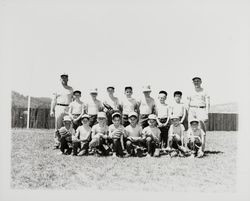
[[[68,85],[68,75],[62,74],[60,81],[61,85],[58,90],[53,93],[50,107],[50,116],[55,117],[55,149],[58,149],[60,145],[58,129],[63,126],[63,117],[68,114],[69,104],[73,98],[73,88]]]

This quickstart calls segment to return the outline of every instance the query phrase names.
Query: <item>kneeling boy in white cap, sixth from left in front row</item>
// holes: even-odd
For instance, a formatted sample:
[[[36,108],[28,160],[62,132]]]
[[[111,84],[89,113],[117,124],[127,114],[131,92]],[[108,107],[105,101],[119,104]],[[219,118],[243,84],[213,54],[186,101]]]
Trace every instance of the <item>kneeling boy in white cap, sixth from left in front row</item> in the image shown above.
[[[160,156],[161,131],[157,127],[157,117],[154,114],[148,116],[148,126],[142,130],[143,139],[147,145],[147,157]]]

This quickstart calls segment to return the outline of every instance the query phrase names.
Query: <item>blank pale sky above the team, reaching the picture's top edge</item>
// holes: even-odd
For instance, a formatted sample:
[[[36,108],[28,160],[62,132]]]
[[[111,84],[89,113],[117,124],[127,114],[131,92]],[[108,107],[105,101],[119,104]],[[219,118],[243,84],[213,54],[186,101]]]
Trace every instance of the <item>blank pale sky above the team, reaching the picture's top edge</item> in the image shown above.
[[[125,85],[139,97],[193,88],[200,76],[211,104],[237,102],[247,48],[247,7],[231,1],[6,1],[2,12],[3,65],[10,87],[51,97],[60,74],[83,92],[104,97]]]

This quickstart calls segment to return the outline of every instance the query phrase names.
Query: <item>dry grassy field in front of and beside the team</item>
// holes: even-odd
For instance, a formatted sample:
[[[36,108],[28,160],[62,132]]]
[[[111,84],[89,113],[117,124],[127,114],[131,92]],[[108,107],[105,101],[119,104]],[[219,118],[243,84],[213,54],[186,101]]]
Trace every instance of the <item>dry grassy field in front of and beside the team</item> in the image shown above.
[[[11,187],[234,192],[237,132],[208,132],[203,158],[57,155],[53,130],[12,130]]]

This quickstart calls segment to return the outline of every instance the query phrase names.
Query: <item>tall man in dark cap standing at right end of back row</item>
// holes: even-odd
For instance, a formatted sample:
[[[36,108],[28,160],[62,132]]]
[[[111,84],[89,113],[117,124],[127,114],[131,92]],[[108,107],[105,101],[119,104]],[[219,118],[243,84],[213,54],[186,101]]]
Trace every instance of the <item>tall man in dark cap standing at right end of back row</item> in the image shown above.
[[[200,77],[192,79],[194,90],[188,96],[188,119],[198,119],[200,126],[204,132],[208,127],[208,113],[210,109],[210,97],[207,92],[201,87],[202,80]],[[205,139],[202,150],[205,149]]]

